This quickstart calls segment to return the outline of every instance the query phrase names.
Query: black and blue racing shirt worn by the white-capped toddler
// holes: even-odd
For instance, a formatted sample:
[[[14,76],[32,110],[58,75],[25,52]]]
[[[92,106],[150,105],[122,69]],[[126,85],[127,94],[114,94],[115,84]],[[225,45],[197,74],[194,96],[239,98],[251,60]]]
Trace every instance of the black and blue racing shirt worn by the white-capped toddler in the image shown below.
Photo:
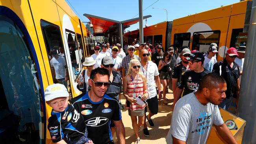
[[[52,142],[59,142],[63,138],[76,141],[83,137],[87,131],[83,116],[70,104],[63,112],[55,113],[52,110],[47,128]]]

